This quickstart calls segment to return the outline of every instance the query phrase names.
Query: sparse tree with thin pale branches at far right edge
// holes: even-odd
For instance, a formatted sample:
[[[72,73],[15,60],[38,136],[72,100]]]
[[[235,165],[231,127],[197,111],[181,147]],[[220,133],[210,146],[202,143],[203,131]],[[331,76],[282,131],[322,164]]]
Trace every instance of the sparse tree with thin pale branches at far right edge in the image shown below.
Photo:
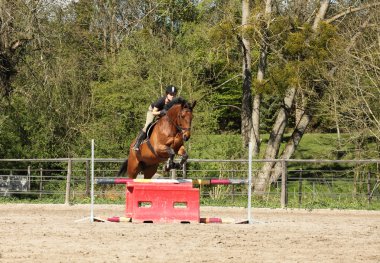
[[[379,145],[380,142],[380,111],[377,98],[379,90],[379,45],[378,25],[379,11],[363,10],[363,15],[351,15],[345,18],[350,26],[344,27],[341,34],[349,39],[347,46],[342,48],[345,59],[335,58],[339,62],[332,76],[331,89],[326,93],[325,107],[334,107],[334,114],[325,114],[343,131],[350,134],[342,139],[365,147],[370,142]],[[360,30],[355,30],[360,28]],[[362,144],[360,142],[366,142]],[[361,156],[377,158],[378,155],[367,149],[360,150]]]

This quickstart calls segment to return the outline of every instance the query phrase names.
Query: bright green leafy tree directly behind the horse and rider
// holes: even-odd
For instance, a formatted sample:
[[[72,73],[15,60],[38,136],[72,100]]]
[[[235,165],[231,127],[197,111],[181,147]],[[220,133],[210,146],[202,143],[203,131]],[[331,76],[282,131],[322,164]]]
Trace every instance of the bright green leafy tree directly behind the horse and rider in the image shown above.
[[[207,129],[209,106],[201,99],[190,63],[186,53],[171,49],[160,38],[144,31],[133,34],[116,62],[104,67],[99,81],[93,82],[94,115],[86,136],[97,138],[103,155],[125,155],[145,122],[149,104],[164,95],[168,84],[179,88],[179,96],[200,102],[194,127]]]

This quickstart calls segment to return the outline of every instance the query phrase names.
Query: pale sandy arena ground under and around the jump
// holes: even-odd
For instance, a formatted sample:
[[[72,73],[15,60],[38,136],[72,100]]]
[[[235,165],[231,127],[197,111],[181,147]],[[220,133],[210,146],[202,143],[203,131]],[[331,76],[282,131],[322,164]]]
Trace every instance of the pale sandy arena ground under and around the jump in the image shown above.
[[[254,224],[90,223],[89,205],[0,205],[0,262],[380,262],[380,212],[253,209]],[[96,205],[95,216],[124,207]],[[246,218],[202,207],[201,217]]]

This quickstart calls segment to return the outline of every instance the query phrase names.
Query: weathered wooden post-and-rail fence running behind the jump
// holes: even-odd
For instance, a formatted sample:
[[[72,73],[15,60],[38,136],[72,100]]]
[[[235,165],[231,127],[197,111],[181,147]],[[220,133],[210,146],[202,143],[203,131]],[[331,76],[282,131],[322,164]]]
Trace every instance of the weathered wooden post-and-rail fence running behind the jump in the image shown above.
[[[95,159],[95,178],[115,177],[123,161]],[[380,160],[253,160],[254,178],[268,162],[281,162],[283,169],[280,179],[268,185],[264,193],[254,193],[254,200],[263,206],[277,203],[282,207],[296,207],[326,200],[338,207],[347,200],[379,203]],[[246,179],[248,160],[189,159],[183,170],[160,175]],[[206,204],[242,205],[247,196],[246,185],[199,187],[201,202]],[[100,198],[121,199],[124,192],[122,186],[95,187],[95,195]],[[90,196],[90,159],[2,159],[0,196],[55,197],[65,203],[83,202]]]

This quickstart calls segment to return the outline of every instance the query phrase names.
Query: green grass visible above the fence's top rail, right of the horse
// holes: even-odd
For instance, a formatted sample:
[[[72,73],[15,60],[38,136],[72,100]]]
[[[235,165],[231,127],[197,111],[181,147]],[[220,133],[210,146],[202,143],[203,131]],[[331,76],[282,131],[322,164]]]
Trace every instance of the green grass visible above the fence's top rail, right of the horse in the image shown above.
[[[291,134],[284,135],[280,152],[290,136]],[[264,157],[268,139],[269,134],[261,136],[261,158]],[[239,159],[248,156],[239,134],[193,135],[186,147],[190,158],[194,159]],[[380,145],[369,141],[362,146],[360,156],[363,159],[380,158],[379,147]],[[346,134],[341,136],[339,144],[335,133],[307,133],[302,137],[293,159],[355,159],[355,156],[358,157],[356,148]]]

